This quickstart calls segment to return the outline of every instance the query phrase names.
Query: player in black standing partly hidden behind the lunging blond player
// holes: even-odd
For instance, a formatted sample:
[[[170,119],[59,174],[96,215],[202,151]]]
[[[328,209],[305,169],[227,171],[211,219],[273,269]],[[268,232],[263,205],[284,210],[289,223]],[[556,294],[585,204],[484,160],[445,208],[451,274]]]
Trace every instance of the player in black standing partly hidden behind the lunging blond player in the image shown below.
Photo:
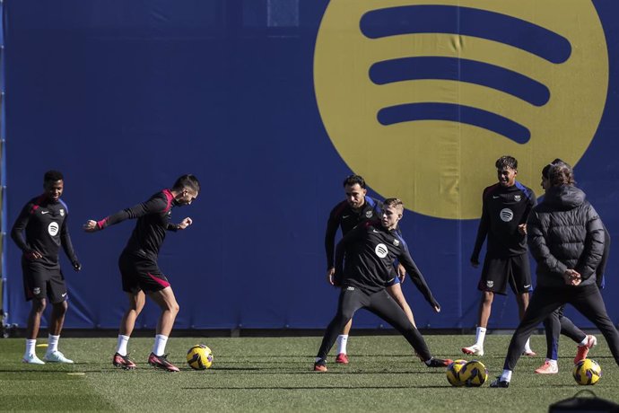
[[[359,175],[350,175],[344,179],[344,192],[346,199],[338,203],[329,214],[327,221],[327,232],[325,233],[325,250],[327,250],[327,281],[332,286],[340,286],[341,280],[334,280],[336,268],[334,265],[334,253],[336,245],[337,228],[342,229],[342,235],[349,233],[356,225],[367,220],[378,219],[381,213],[380,201],[368,197],[365,180]],[[400,286],[400,278],[404,280],[405,269],[398,265],[399,277],[394,277],[387,291],[396,300],[397,304],[405,311],[408,319],[414,324],[413,312],[411,307],[406,303],[402,286]],[[348,364],[348,356],[346,354],[346,344],[348,335],[353,326],[353,319],[348,321],[344,326],[342,333],[337,336],[337,356],[336,363]]]

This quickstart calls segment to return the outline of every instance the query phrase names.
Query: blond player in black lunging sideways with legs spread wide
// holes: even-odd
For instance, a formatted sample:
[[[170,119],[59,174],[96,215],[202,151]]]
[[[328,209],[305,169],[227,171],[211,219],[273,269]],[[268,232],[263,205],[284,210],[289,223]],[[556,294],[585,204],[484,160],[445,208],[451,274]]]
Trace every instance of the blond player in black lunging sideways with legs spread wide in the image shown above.
[[[393,263],[398,259],[434,311],[440,312],[439,303],[432,296],[422,273],[397,233],[397,223],[403,213],[402,201],[388,198],[384,201],[380,224],[371,221],[359,224],[338,242],[334,277],[342,280],[342,291],[336,316],[329,323],[318,350],[314,363],[315,371],[327,371],[327,355],[337,334],[353,318],[354,312],[361,308],[375,313],[402,333],[429,367],[444,367],[451,363],[451,360],[432,357],[419,330],[385,290],[386,285],[397,277]]]

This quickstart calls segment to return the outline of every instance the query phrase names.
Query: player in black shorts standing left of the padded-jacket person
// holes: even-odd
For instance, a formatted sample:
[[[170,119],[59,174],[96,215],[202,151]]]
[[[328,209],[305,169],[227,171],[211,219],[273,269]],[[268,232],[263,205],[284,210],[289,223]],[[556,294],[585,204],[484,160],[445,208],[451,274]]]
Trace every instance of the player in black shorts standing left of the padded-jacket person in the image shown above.
[[[484,240],[486,255],[482,277],[477,288],[482,292],[475,344],[463,347],[467,355],[484,356],[484,338],[493,307],[494,294],[504,295],[508,283],[516,295],[519,316],[522,319],[531,290],[531,274],[527,255],[527,216],[536,205],[536,196],[516,180],[518,161],[512,156],[501,156],[496,163],[499,182],[484,189],[482,218],[477,230],[471,265],[479,267],[479,253]],[[528,340],[526,356],[535,356]]]

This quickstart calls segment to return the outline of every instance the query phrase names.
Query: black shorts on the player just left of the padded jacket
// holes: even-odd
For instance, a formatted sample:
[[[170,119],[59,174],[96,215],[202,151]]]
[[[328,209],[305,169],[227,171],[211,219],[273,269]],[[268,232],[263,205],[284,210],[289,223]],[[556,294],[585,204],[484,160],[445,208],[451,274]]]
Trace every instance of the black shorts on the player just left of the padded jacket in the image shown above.
[[[508,283],[514,294],[524,294],[532,290],[528,254],[504,258],[486,255],[482,277],[477,288],[481,291],[505,295]]]

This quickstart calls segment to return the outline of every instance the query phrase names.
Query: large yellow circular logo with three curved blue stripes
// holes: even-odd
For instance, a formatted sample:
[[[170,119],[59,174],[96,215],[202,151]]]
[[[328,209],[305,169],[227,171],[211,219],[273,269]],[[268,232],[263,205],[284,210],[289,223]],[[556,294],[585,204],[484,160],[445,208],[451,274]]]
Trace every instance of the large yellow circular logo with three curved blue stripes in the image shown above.
[[[606,40],[585,0],[331,0],[314,83],[329,137],[372,189],[472,219],[501,155],[536,191],[546,163],[580,160],[606,102]]]

